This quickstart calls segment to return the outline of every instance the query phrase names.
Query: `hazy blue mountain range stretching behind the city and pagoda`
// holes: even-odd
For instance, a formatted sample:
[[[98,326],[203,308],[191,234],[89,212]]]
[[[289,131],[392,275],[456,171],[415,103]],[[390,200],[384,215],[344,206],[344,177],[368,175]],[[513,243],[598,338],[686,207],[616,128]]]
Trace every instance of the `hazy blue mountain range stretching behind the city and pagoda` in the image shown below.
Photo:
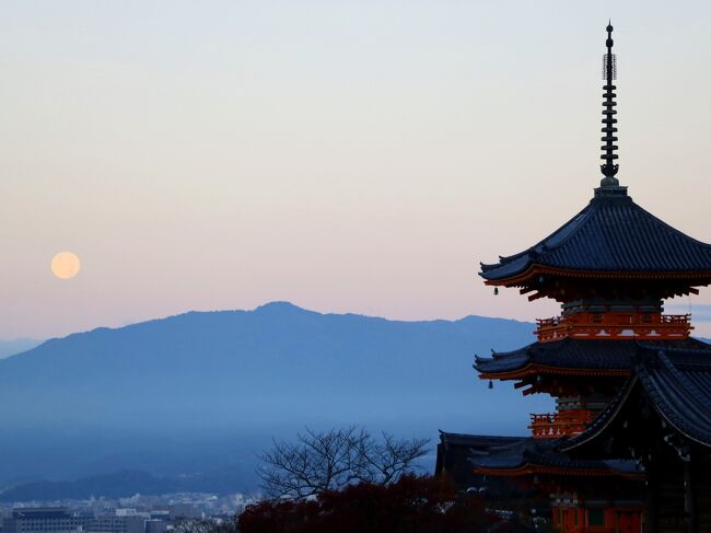
[[[362,424],[521,433],[543,397],[488,390],[475,354],[533,341],[501,318],[399,322],[275,302],[51,339],[0,360],[0,486],[118,470],[249,477],[272,436]],[[253,482],[254,479],[250,479]]]

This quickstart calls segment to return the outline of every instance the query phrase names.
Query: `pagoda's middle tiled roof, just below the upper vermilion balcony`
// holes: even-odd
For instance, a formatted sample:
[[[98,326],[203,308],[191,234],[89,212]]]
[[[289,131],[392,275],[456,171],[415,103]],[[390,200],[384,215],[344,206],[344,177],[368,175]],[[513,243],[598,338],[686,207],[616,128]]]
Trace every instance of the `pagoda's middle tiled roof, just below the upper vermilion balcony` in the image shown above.
[[[627,375],[640,349],[691,350],[711,361],[711,345],[695,338],[676,340],[594,340],[563,338],[533,343],[517,350],[475,357],[474,368],[482,379],[515,380],[539,373]]]

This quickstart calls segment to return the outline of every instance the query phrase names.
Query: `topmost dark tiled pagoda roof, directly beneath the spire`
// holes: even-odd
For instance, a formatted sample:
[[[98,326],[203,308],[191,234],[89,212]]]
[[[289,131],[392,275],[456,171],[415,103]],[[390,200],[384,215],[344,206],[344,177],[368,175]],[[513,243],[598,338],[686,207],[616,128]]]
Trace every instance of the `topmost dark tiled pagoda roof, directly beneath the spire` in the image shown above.
[[[539,267],[536,269],[536,267]],[[489,285],[516,285],[540,270],[615,277],[711,277],[711,245],[691,239],[623,194],[597,189],[590,204],[534,246],[481,264]]]

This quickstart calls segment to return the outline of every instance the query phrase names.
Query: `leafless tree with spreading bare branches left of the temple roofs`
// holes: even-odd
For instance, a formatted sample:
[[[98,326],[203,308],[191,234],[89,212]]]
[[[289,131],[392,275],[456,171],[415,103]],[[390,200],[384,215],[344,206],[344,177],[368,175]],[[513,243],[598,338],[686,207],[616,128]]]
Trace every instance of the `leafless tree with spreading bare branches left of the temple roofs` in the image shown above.
[[[275,440],[261,454],[257,474],[271,498],[307,498],[356,483],[387,485],[415,470],[428,443],[385,432],[378,441],[356,426],[323,432],[306,428],[296,442]]]

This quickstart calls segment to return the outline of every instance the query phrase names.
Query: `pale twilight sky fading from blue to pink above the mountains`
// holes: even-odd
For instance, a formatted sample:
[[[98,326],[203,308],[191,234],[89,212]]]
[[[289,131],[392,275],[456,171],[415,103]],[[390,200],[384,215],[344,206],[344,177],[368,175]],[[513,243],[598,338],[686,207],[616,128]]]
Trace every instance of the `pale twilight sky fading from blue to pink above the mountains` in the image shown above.
[[[619,177],[710,242],[708,2],[4,0],[0,337],[271,300],[557,314],[476,273],[599,182],[608,16]]]

